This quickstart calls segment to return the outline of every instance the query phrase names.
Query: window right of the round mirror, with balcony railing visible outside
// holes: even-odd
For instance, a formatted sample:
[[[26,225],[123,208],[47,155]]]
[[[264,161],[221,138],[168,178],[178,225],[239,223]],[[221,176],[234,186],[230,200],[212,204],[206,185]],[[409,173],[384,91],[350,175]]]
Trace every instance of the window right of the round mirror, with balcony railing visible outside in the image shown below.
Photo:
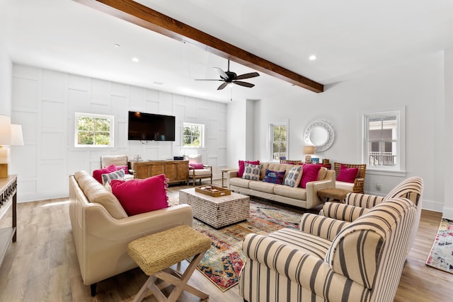
[[[364,161],[370,169],[403,170],[403,110],[365,114]]]

